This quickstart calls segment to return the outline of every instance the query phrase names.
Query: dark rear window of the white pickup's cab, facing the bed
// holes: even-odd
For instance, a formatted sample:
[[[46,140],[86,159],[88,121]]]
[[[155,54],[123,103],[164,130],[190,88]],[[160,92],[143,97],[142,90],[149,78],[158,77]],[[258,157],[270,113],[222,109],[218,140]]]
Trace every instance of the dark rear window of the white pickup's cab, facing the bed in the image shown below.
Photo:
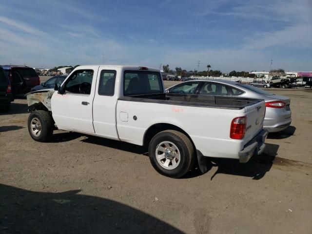
[[[123,95],[163,93],[159,72],[125,71],[123,78]]]

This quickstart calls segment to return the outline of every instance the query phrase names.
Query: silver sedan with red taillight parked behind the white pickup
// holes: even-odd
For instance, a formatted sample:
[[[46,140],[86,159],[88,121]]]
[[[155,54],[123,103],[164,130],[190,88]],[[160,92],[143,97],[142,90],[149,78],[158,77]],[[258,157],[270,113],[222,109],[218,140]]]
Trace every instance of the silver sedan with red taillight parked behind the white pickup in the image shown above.
[[[168,88],[166,92],[264,99],[267,107],[264,129],[269,132],[279,132],[286,129],[292,122],[290,98],[274,95],[249,84],[231,80],[196,80],[174,85]]]

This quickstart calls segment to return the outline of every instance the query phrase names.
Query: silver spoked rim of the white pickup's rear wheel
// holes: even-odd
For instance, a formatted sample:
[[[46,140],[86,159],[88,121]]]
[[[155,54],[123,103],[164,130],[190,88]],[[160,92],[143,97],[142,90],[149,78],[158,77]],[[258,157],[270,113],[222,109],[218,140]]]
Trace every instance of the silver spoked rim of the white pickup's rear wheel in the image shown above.
[[[162,141],[156,147],[156,160],[167,170],[175,169],[181,161],[181,154],[177,146],[171,141]]]

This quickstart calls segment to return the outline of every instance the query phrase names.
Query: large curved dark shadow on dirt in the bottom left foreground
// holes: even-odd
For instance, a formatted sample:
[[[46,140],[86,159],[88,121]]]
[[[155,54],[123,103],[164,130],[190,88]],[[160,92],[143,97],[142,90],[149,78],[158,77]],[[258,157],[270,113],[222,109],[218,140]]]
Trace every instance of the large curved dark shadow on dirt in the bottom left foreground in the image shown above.
[[[79,192],[40,193],[0,184],[1,234],[182,234],[130,206]]]

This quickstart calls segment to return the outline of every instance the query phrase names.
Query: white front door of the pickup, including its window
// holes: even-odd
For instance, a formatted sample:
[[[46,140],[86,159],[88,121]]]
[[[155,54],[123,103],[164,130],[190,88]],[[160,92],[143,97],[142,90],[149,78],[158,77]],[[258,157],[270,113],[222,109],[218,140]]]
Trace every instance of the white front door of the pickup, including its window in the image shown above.
[[[73,72],[62,83],[63,94],[55,92],[51,99],[52,116],[59,129],[94,133],[92,102],[98,66]]]

